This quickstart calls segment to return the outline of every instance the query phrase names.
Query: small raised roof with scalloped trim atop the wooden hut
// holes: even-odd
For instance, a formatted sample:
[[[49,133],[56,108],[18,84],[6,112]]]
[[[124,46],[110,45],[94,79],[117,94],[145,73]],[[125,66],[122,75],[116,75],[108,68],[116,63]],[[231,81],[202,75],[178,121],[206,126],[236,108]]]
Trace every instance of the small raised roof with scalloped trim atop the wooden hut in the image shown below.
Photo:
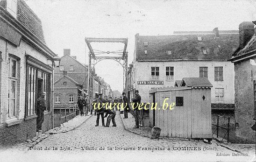
[[[213,86],[207,77],[184,77],[181,86]]]

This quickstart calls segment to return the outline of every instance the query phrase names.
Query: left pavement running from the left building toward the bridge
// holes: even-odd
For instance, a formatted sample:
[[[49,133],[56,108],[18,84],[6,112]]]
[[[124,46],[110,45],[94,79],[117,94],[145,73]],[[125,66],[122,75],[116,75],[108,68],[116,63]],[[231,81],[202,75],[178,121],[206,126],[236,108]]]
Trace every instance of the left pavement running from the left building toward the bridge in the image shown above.
[[[94,113],[92,114],[94,115]],[[55,127],[53,129],[50,129],[49,131],[44,132],[41,135],[35,136],[32,139],[28,139],[27,141],[23,141],[21,143],[15,144],[13,147],[10,148],[10,150],[20,150],[20,151],[27,151],[29,147],[33,147],[40,141],[46,139],[51,134],[60,134],[60,133],[66,133],[68,131],[71,131],[80,125],[82,125],[87,119],[89,119],[91,114],[87,116],[76,116],[75,118],[63,123],[60,127]]]

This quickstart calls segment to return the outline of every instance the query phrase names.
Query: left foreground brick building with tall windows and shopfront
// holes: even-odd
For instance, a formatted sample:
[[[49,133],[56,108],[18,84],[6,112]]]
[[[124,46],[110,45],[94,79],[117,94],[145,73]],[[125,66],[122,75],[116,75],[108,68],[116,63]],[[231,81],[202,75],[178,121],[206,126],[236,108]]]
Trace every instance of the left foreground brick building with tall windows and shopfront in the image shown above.
[[[36,135],[36,99],[43,91],[43,132],[52,127],[54,56],[45,44],[41,20],[25,1],[0,1],[0,145]]]

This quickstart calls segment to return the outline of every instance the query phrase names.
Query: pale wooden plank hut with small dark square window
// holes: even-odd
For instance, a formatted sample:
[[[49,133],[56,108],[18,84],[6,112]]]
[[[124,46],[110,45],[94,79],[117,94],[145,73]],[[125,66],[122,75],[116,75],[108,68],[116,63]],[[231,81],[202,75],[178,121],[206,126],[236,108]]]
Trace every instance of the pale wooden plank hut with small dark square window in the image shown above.
[[[160,136],[181,138],[212,138],[211,87],[206,77],[185,77],[179,87],[155,88],[149,91],[149,127],[160,127]],[[165,100],[168,98],[168,100]],[[165,103],[173,109],[164,110]]]

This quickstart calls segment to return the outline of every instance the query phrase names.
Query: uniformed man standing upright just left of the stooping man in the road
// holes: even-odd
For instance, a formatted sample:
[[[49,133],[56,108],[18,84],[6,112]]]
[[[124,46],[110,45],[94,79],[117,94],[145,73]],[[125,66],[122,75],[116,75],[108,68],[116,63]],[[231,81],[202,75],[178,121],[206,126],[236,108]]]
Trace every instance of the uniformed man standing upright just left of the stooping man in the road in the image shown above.
[[[98,104],[100,103],[100,109],[98,108]],[[94,101],[92,101],[92,107],[94,108],[94,104],[95,105],[95,112],[97,113],[97,120],[96,120],[96,125],[95,127],[99,126],[99,120],[100,120],[100,116],[101,116],[101,122],[102,122],[102,126],[105,126],[105,122],[104,122],[104,106],[103,104],[107,103],[106,99],[102,98],[102,93],[99,93],[99,98],[95,99]]]

